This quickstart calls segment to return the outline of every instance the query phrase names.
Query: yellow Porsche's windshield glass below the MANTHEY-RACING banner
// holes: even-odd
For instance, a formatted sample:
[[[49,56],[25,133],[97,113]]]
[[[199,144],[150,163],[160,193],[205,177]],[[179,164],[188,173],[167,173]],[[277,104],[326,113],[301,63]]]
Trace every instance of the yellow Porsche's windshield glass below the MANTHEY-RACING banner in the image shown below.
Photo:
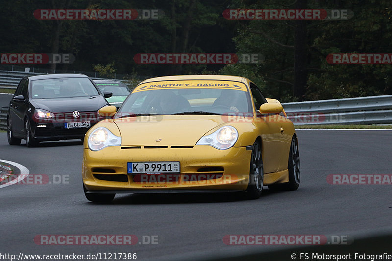
[[[146,90],[132,93],[116,117],[145,114],[251,113],[249,93],[224,88]]]

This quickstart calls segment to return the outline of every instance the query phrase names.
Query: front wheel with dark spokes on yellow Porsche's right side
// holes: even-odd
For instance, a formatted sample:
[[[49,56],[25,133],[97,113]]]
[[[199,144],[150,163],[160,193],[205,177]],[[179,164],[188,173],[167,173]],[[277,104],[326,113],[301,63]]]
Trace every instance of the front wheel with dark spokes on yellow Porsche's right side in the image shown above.
[[[264,184],[264,166],[259,141],[253,144],[249,170],[249,184],[246,189],[246,197],[248,199],[258,199]]]

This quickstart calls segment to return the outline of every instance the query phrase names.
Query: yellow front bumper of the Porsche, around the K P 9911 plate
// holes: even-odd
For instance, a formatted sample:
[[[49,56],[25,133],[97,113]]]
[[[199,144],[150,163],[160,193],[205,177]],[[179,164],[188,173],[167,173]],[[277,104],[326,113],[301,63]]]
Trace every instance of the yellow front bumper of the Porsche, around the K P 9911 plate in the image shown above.
[[[211,146],[118,146],[106,147],[100,151],[84,148],[83,183],[88,192],[94,193],[244,191],[249,182],[251,152],[246,147],[218,150]],[[127,162],[152,161],[179,161],[180,173],[156,174],[158,178],[147,181],[127,174]]]

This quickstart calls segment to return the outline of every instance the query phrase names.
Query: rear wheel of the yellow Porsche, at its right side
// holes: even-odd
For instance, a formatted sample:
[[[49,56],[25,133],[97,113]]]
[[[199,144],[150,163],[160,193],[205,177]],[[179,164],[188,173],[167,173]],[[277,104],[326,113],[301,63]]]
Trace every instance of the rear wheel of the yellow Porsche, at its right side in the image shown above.
[[[289,182],[270,185],[268,186],[268,190],[294,191],[298,189],[301,181],[301,166],[299,160],[298,139],[295,136],[291,140],[287,169],[289,170]]]

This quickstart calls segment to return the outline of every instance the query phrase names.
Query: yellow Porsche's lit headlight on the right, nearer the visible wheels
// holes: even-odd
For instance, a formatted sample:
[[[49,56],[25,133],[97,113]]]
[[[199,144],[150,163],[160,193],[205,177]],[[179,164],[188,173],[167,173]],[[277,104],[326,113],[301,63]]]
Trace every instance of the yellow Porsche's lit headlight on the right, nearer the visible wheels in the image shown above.
[[[196,145],[209,145],[217,149],[228,149],[234,146],[238,139],[238,131],[232,126],[224,126],[210,135],[201,137]]]

